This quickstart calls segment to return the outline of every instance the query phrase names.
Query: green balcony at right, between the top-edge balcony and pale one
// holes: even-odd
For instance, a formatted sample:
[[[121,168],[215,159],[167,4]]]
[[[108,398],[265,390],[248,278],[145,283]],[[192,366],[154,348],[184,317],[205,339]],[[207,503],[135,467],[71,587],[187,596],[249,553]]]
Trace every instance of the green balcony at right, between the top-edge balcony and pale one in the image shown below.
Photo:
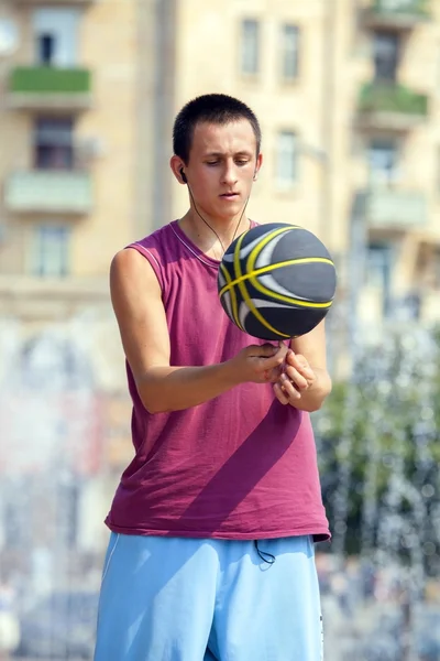
[[[410,130],[428,116],[428,97],[393,83],[369,83],[361,89],[358,123],[363,128]]]

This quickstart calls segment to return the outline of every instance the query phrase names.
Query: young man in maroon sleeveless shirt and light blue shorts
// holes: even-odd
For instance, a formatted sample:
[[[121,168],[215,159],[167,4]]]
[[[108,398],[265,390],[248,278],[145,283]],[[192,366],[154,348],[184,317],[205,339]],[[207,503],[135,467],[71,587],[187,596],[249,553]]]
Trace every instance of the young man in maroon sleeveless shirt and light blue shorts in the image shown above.
[[[217,293],[252,226],[260,145],[238,99],[190,101],[170,161],[189,209],[111,264],[135,456],[107,519],[95,661],[321,659],[314,540],[329,531],[308,412],[331,387],[323,325],[264,344]]]

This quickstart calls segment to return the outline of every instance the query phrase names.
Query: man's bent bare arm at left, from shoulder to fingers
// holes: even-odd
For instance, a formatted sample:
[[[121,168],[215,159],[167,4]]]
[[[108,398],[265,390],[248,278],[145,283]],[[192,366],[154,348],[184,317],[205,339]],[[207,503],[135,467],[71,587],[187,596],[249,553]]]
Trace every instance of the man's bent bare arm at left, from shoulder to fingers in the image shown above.
[[[196,407],[245,381],[266,382],[266,375],[284,360],[285,351],[268,345],[246,347],[218,365],[170,366],[161,288],[151,264],[136,250],[114,257],[110,292],[138,392],[151,413]]]

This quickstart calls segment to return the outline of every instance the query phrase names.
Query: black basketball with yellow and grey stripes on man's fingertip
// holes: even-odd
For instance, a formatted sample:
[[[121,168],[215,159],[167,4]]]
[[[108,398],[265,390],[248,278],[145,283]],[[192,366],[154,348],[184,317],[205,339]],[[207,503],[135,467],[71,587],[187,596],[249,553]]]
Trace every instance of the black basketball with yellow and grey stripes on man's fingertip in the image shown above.
[[[266,340],[298,337],[321,322],[333,302],[334,263],[311,231],[258,225],[235,239],[220,263],[218,290],[229,318]]]

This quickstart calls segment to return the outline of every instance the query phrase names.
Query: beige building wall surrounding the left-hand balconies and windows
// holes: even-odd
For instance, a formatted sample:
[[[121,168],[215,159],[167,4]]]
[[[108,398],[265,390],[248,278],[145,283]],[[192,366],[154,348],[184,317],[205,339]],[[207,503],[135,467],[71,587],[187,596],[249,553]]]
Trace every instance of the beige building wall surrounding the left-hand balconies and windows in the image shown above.
[[[148,42],[145,46],[144,43],[148,39],[145,24],[151,25],[148,11],[153,3],[143,2],[142,11],[140,4],[138,0],[98,2],[84,9],[81,15],[78,66],[91,71],[92,106],[76,115],[75,142],[95,144],[95,154],[86,164],[94,183],[91,213],[81,218],[8,214],[2,202],[1,218],[9,228],[9,239],[0,249],[0,273],[29,271],[30,232],[40,223],[66,223],[72,227],[73,277],[107,275],[112,254],[133,237],[148,231],[151,140],[141,140],[140,136],[148,122],[153,96],[154,66],[147,57],[153,44]],[[8,17],[19,26],[20,47],[1,63],[3,99],[12,67],[33,62],[32,11],[37,7],[37,3],[31,8],[20,3],[9,6]],[[153,26],[150,32],[152,30]],[[3,101],[0,107],[2,181],[14,170],[33,166],[32,123],[37,115],[46,115],[9,110],[6,106]],[[56,115],[51,109],[48,112]]]

